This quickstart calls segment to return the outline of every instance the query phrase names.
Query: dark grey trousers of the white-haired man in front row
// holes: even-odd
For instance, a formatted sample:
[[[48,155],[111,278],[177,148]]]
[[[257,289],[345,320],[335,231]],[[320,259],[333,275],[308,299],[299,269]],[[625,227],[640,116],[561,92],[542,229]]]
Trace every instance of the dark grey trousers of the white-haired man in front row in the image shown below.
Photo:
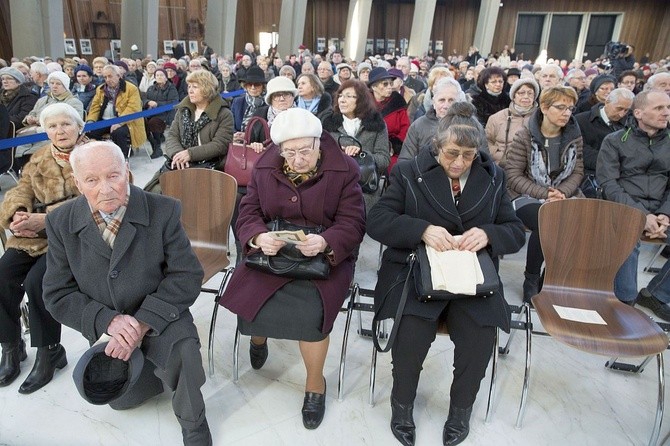
[[[166,353],[167,354],[167,353]],[[126,395],[110,403],[112,409],[136,407],[145,400],[162,393],[163,386],[170,388],[172,409],[184,429],[195,429],[205,420],[205,400],[200,388],[205,384],[200,342],[186,338],[172,346],[165,369],[155,366],[145,358],[139,379]]]

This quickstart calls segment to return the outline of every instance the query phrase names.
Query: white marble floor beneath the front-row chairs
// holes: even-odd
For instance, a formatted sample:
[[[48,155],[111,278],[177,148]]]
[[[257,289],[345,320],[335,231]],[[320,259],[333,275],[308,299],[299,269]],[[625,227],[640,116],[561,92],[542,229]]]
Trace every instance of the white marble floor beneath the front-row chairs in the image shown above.
[[[139,153],[130,160],[136,184],[142,185],[160,165]],[[12,181],[0,178],[3,192]],[[2,194],[2,193],[0,193]],[[375,283],[378,244],[366,238],[357,265],[357,282],[364,288]],[[653,255],[643,246],[640,265]],[[505,256],[501,276],[510,303],[521,301],[524,252]],[[659,261],[660,263],[660,261]],[[650,274],[640,268],[640,285]],[[220,276],[211,281],[217,286]],[[211,295],[202,294],[192,308],[200,336],[207,338],[212,311]],[[242,339],[240,377],[232,382],[232,351],[235,318],[219,312],[215,341],[215,373],[202,391],[215,445],[393,445],[389,430],[391,388],[390,355],[378,358],[374,406],[368,405],[368,374],[372,342],[350,329],[345,391],[337,400],[339,366],[345,315],[341,314],[331,335],[326,360],[327,409],[323,424],[315,431],[302,426],[304,369],[297,343],[270,340],[270,356],[261,370],[249,365],[246,338]],[[364,324],[369,324],[369,315]],[[507,335],[503,335],[504,342]],[[181,432],[170,405],[170,394],[143,406],[116,412],[108,406],[93,406],[77,393],[72,370],[87,342],[65,328],[63,345],[69,365],[54,380],[32,395],[17,392],[32,367],[35,350],[29,349],[19,379],[0,389],[0,445],[178,445]],[[206,341],[203,342],[206,344]],[[206,367],[207,351],[202,349]],[[642,374],[604,368],[606,358],[564,347],[547,337],[533,337],[533,368],[523,427],[515,429],[524,369],[524,338],[517,332],[510,353],[501,356],[498,392],[493,419],[485,424],[487,377],[473,409],[469,445],[643,445],[647,444],[655,415],[657,385],[655,362]],[[438,336],[424,364],[415,402],[417,445],[441,444],[442,426],[449,408],[449,386],[453,345]],[[667,373],[666,373],[667,376]],[[661,440],[670,430],[667,422]],[[660,442],[659,442],[660,443]]]

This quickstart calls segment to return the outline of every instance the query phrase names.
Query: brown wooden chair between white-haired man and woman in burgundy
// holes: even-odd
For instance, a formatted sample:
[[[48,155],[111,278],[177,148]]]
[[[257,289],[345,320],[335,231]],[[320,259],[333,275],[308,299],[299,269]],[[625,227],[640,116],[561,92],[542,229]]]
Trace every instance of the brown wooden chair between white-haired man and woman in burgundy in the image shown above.
[[[228,238],[235,208],[237,181],[227,173],[212,169],[183,169],[160,176],[163,194],[181,200],[181,221],[195,255],[205,271],[203,285],[215,274],[225,274],[217,289],[202,288],[214,294],[214,310],[209,327],[207,359],[209,374],[214,374],[214,330],[219,299],[234,268],[229,267]]]

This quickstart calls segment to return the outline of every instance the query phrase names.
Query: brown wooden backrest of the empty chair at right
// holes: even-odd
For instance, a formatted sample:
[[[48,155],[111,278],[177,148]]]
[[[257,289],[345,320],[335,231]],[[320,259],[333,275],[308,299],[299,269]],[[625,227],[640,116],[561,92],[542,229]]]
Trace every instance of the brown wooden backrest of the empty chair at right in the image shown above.
[[[614,298],[614,277],[644,230],[644,214],[611,201],[576,198],[540,207],[546,262],[542,289],[602,291]]]

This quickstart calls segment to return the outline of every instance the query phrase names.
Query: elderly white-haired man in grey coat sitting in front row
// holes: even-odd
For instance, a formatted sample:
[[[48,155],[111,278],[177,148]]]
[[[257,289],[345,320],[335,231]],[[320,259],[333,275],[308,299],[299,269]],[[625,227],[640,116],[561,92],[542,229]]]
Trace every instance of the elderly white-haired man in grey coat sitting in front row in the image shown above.
[[[211,445],[189,311],[203,272],[179,202],[129,185],[123,153],[112,142],[85,144],[70,162],[83,196],[47,217],[46,307],[91,343],[110,335],[105,353],[112,358],[127,361],[141,348],[148,360],[142,376],[112,408],[139,405],[167,385],[184,444]]]

